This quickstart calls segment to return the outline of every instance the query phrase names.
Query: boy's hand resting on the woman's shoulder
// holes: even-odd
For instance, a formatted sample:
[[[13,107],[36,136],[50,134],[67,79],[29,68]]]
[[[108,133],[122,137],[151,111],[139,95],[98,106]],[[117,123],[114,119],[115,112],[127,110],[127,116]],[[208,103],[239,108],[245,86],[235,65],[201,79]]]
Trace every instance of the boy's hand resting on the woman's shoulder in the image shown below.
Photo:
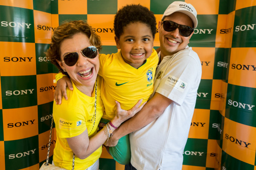
[[[64,76],[57,81],[56,89],[54,92],[54,100],[56,102],[56,105],[61,104],[62,95],[67,100],[67,86],[70,90],[73,90],[72,82],[68,77]]]

